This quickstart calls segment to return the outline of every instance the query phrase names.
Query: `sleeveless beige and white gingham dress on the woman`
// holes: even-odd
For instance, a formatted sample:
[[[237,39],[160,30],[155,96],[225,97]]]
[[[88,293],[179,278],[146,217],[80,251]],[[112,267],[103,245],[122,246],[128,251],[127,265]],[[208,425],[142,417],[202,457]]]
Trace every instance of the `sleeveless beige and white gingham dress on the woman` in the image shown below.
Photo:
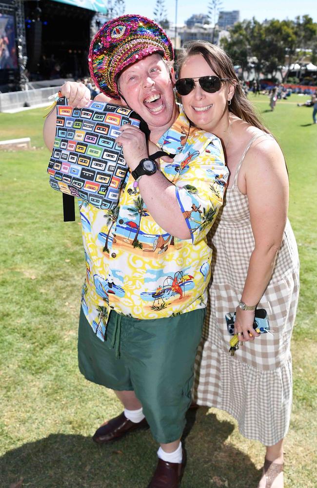
[[[238,420],[245,437],[271,446],[285,437],[292,405],[290,342],[298,300],[299,262],[289,221],[273,275],[258,304],[267,311],[273,335],[261,334],[240,346],[232,357],[225,320],[226,313],[235,311],[241,298],[255,245],[248,199],[240,193],[237,180],[245,154],[258,137],[263,134],[253,137],[245,148],[222,212],[208,236],[213,248],[212,282],[195,365],[194,400],[199,405],[226,410]]]

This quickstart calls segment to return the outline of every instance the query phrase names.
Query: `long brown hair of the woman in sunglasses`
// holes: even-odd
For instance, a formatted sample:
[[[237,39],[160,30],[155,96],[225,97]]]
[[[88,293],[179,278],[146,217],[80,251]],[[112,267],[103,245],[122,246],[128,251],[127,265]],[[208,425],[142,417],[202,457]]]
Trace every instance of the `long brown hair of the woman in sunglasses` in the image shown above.
[[[209,64],[211,69],[219,78],[229,78],[231,83],[235,82],[235,93],[232,97],[231,104],[228,106],[229,112],[232,112],[244,122],[248,122],[254,127],[263,130],[267,134],[270,132],[260,122],[251,102],[243,92],[231,58],[215,44],[207,41],[190,41],[184,45],[184,48],[178,53],[177,66],[180,73],[184,62],[190,57],[200,54]]]

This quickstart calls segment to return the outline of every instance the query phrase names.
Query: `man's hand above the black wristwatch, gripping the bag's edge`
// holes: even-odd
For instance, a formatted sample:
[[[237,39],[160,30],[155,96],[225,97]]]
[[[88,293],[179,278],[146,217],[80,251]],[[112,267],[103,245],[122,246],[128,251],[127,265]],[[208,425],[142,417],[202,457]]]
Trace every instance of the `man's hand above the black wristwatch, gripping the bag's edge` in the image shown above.
[[[124,159],[133,171],[142,159],[149,157],[145,134],[138,127],[130,124],[122,125],[119,130],[121,134],[116,142],[122,146]]]

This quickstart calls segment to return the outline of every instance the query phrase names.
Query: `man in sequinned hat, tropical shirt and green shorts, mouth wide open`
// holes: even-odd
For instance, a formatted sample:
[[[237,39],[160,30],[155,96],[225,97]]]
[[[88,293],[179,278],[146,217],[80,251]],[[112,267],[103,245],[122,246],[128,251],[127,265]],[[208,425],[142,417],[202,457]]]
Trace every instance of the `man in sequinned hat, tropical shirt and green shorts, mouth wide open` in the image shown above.
[[[124,406],[93,439],[109,442],[148,423],[160,444],[148,487],[177,488],[210,276],[205,236],[222,204],[217,178],[226,179],[228,171],[220,141],[190,127],[179,113],[173,47],[155,22],[137,15],[108,21],[89,56],[101,92],[135,110],[148,124],[151,143],[174,156],[155,163],[153,144],[149,150],[143,132],[125,125],[117,144],[131,173],[118,207],[80,206],[87,277],[79,369],[90,381],[114,389]],[[61,92],[74,107],[89,100],[76,83],[66,83]],[[54,127],[52,112],[44,128],[50,148]]]

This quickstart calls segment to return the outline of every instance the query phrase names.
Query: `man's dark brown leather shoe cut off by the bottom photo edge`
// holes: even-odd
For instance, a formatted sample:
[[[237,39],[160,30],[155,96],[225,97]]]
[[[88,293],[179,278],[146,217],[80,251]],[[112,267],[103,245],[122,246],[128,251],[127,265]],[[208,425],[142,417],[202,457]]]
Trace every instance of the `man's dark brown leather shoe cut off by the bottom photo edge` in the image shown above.
[[[167,463],[158,458],[158,466],[147,488],[179,488],[186,465],[186,451],[183,449],[181,463]]]

